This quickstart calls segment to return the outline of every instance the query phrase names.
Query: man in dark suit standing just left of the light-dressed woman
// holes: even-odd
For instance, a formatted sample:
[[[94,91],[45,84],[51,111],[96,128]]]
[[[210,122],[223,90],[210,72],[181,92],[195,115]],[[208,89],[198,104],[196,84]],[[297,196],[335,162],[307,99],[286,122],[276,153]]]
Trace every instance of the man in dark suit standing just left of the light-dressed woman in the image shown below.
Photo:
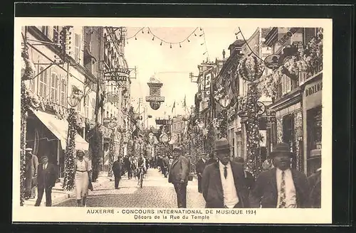
[[[38,197],[35,206],[41,205],[43,193],[46,192],[46,206],[50,207],[52,206],[52,188],[56,184],[57,180],[56,166],[48,163],[47,156],[42,156],[41,162],[42,163],[38,164]]]

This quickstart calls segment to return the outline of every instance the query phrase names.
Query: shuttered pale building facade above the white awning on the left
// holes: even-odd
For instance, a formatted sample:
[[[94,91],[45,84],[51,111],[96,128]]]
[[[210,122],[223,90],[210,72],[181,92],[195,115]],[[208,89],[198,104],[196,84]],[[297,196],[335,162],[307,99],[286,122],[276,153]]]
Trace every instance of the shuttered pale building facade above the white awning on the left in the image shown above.
[[[67,28],[67,27],[66,27]],[[63,175],[64,151],[68,134],[68,99],[74,90],[80,90],[86,98],[90,87],[86,82],[95,82],[83,66],[83,28],[62,26],[25,26],[23,38],[28,46],[28,57],[35,65],[35,78],[26,81],[28,90],[44,103],[44,109],[28,113],[26,146],[33,148],[38,157],[48,156]],[[61,42],[66,37],[66,53]],[[25,41],[23,41],[25,43]],[[78,149],[88,151],[85,138],[85,120],[92,119],[94,108],[86,107],[82,99],[75,107],[81,116],[82,127],[75,137]]]

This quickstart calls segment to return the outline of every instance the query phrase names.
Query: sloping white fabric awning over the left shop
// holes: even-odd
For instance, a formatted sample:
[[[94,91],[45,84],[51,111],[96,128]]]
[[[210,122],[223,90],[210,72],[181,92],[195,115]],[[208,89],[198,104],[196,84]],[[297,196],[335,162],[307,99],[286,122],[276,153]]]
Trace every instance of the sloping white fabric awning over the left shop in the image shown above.
[[[41,111],[33,111],[40,121],[61,141],[63,150],[66,149],[66,139],[68,134],[68,121],[57,119],[52,114]],[[75,149],[88,151],[89,143],[79,134],[75,134]]]

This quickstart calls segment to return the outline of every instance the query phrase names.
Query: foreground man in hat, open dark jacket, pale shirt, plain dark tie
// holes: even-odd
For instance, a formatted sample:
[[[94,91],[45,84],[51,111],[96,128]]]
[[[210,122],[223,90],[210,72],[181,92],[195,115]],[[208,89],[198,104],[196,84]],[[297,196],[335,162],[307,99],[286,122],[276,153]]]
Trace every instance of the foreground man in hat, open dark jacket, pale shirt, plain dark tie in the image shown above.
[[[204,169],[201,180],[206,208],[248,208],[248,188],[244,168],[230,161],[230,145],[227,139],[215,141],[219,161]]]

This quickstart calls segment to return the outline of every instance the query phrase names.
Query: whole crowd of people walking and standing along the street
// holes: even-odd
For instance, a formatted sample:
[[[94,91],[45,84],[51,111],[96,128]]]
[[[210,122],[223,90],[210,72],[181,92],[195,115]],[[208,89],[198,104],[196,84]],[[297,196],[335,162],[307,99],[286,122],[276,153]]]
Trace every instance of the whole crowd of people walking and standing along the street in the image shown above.
[[[117,156],[112,165],[115,189],[120,188],[122,175],[127,174],[128,179],[137,178],[140,170],[145,175],[148,168],[156,168],[174,186],[179,208],[187,208],[187,185],[193,180],[193,172],[197,175],[197,191],[203,195],[207,208],[320,208],[320,154],[313,156],[320,160],[319,168],[307,178],[304,173],[291,168],[293,153],[288,144],[278,143],[263,163],[264,171],[255,178],[246,170],[244,158],[230,157],[230,148],[227,139],[216,140],[214,153],[201,154],[194,164],[194,171],[191,156],[184,154],[180,146],[174,146],[172,156]],[[91,161],[85,157],[84,151],[76,151],[75,197],[78,207],[86,206],[88,190],[93,190],[91,172]],[[56,166],[48,163],[48,156],[38,160],[32,149],[26,148],[25,177],[25,199],[35,198],[37,188],[35,206],[41,205],[44,193],[46,206],[51,206],[51,190],[58,174]]]

